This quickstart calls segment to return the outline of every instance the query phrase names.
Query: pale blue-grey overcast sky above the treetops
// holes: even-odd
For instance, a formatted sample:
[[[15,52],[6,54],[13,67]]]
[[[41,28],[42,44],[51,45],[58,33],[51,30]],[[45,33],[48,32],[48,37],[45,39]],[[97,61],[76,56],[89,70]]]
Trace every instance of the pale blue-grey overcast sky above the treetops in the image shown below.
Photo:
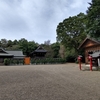
[[[0,0],[0,39],[56,42],[57,25],[91,0]]]

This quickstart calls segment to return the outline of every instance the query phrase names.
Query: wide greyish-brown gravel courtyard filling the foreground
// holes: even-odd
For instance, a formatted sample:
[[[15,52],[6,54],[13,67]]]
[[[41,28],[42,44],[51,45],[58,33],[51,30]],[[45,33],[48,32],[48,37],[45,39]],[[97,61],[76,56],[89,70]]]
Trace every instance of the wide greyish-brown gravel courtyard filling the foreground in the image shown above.
[[[0,66],[0,100],[100,100],[100,71],[77,64]]]

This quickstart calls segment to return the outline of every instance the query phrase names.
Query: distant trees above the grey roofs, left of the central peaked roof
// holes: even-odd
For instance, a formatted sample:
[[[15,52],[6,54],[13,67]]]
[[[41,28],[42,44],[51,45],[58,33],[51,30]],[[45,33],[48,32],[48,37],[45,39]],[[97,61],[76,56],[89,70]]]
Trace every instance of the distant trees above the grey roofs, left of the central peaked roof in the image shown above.
[[[34,41],[27,41],[25,38],[20,40],[7,40],[1,39],[0,47],[3,47],[6,50],[22,50],[23,54],[29,56],[30,52],[33,52],[39,44]]]

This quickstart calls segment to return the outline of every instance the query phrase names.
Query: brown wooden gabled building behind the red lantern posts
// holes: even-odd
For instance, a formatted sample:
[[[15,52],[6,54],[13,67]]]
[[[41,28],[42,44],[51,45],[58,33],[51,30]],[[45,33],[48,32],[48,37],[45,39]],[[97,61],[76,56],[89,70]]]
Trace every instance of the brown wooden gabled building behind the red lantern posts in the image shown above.
[[[78,49],[85,51],[85,63],[89,63],[88,56],[91,55],[95,61],[100,60],[100,41],[86,38],[79,46]],[[100,66],[100,65],[99,65]]]

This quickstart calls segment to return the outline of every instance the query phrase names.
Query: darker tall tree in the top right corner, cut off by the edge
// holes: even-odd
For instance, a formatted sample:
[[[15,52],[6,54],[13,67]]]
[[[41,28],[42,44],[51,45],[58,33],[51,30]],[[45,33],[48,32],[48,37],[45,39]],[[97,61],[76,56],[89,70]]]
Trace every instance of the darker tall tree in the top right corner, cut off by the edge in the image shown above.
[[[100,0],[92,0],[87,10],[88,34],[91,37],[100,38]]]

